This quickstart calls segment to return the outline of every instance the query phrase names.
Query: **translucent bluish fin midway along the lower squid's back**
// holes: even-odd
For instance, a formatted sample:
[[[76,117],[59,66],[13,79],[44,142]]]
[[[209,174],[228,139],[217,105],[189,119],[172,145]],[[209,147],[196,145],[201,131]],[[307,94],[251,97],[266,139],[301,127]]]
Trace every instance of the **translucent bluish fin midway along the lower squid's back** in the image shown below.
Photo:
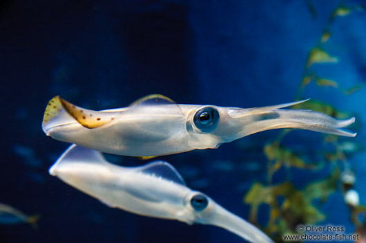
[[[142,167],[138,167],[137,169],[142,173],[153,175],[155,177],[161,177],[164,180],[170,180],[177,184],[186,186],[186,182],[184,182],[184,179],[180,173],[178,173],[173,165],[169,164],[168,162],[155,161]]]

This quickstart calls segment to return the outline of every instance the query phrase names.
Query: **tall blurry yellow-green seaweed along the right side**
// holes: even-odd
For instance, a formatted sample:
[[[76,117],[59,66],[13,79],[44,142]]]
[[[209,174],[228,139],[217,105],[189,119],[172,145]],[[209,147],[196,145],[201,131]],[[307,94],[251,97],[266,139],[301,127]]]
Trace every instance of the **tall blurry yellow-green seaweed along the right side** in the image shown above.
[[[316,10],[307,1],[309,10],[313,17]],[[342,94],[351,95],[362,87],[358,84],[354,87],[341,87],[338,82],[330,78],[322,77],[313,69],[319,63],[329,63],[335,65],[339,58],[326,51],[327,41],[331,38],[331,26],[335,19],[345,17],[356,10],[364,10],[358,5],[346,6],[346,1],[340,1],[336,9],[331,12],[325,28],[314,47],[309,50],[307,61],[305,62],[302,81],[298,87],[296,100],[303,99],[302,93],[309,83],[314,82],[317,87],[334,87]],[[307,103],[294,105],[293,109],[312,109],[322,112],[334,118],[345,118],[349,114],[340,112],[335,107],[322,101],[311,100]],[[258,222],[259,207],[267,205],[269,220],[263,227],[266,232],[276,242],[286,242],[283,235],[299,235],[300,225],[316,225],[327,219],[327,215],[321,211],[321,206],[327,202],[329,196],[341,191],[344,203],[349,208],[349,220],[356,227],[356,234],[359,242],[365,240],[366,217],[360,218],[360,214],[365,214],[366,207],[360,204],[358,192],[354,189],[356,177],[351,171],[348,156],[364,150],[360,142],[348,141],[337,136],[325,135],[319,141],[316,158],[314,162],[306,156],[307,151],[296,151],[285,143],[282,143],[289,130],[282,131],[276,139],[268,142],[264,146],[264,154],[267,157],[267,184],[254,182],[251,189],[244,196],[244,203],[250,205],[249,221],[260,225]],[[310,156],[311,157],[311,156]],[[285,179],[273,182],[276,172],[286,169]],[[318,171],[328,171],[328,175],[320,180],[309,182],[303,189],[298,189],[293,184],[291,171],[300,169],[307,173]],[[340,186],[341,185],[341,186]]]

